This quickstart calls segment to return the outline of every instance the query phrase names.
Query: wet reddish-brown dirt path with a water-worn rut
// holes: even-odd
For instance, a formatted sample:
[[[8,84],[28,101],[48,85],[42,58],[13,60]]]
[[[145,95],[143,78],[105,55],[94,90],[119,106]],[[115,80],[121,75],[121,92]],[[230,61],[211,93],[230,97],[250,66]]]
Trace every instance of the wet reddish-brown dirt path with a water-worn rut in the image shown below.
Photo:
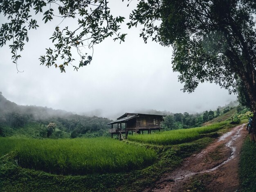
[[[239,153],[247,136],[244,125],[234,127],[199,154],[186,158],[176,170],[164,174],[154,188],[145,191],[236,191]]]

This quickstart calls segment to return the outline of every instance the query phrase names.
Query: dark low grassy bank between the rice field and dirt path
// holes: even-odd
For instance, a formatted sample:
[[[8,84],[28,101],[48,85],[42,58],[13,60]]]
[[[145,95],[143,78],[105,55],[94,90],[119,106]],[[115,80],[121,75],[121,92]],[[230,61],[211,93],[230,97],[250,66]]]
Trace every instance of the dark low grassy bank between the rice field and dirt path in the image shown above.
[[[226,132],[221,129],[218,132]],[[214,134],[213,134],[214,135]],[[0,188],[3,191],[136,191],[152,185],[164,172],[177,167],[182,160],[209,145],[213,138],[204,137],[191,143],[172,146],[130,144],[150,147],[157,152],[157,161],[141,170],[112,174],[61,176],[21,168],[12,152],[0,158]],[[132,184],[132,185],[131,185]]]

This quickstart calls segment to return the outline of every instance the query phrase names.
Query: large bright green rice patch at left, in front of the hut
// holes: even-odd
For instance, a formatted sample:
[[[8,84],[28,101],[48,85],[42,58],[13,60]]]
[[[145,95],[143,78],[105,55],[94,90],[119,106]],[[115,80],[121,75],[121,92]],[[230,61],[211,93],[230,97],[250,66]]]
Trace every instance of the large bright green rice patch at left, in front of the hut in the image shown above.
[[[22,167],[56,174],[120,172],[145,167],[156,159],[151,149],[110,138],[0,138],[0,146],[6,146],[0,154],[15,149]]]

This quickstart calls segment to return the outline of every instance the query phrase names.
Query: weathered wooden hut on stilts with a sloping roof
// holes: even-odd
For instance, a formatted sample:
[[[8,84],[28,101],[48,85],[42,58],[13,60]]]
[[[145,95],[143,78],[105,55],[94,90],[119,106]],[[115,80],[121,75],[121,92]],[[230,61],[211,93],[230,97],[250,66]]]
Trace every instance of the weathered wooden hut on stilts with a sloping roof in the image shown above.
[[[160,131],[160,123],[164,121],[163,117],[164,115],[125,113],[117,118],[116,121],[108,123],[108,125],[112,125],[112,128],[109,129],[109,133],[111,137],[113,137],[113,134],[117,134],[120,140],[124,139],[123,134],[125,134],[125,138],[127,138],[129,131],[131,131],[132,134],[133,132],[143,134],[144,131],[148,131],[148,134],[150,134],[151,130]],[[113,125],[115,125],[115,127]]]

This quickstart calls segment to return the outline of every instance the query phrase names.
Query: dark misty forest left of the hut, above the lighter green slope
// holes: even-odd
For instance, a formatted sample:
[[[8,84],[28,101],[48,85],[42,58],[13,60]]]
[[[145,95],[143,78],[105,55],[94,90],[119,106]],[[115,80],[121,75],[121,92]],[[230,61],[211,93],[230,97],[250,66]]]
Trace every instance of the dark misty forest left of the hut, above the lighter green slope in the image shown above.
[[[41,132],[43,136],[52,134],[50,132],[53,130],[49,130],[50,123],[55,123],[55,127],[62,131],[74,132],[72,136],[77,136],[87,132],[106,132],[109,128],[107,124],[111,120],[97,116],[81,116],[48,107],[17,105],[0,94],[0,126],[18,128],[32,122],[43,125]]]

